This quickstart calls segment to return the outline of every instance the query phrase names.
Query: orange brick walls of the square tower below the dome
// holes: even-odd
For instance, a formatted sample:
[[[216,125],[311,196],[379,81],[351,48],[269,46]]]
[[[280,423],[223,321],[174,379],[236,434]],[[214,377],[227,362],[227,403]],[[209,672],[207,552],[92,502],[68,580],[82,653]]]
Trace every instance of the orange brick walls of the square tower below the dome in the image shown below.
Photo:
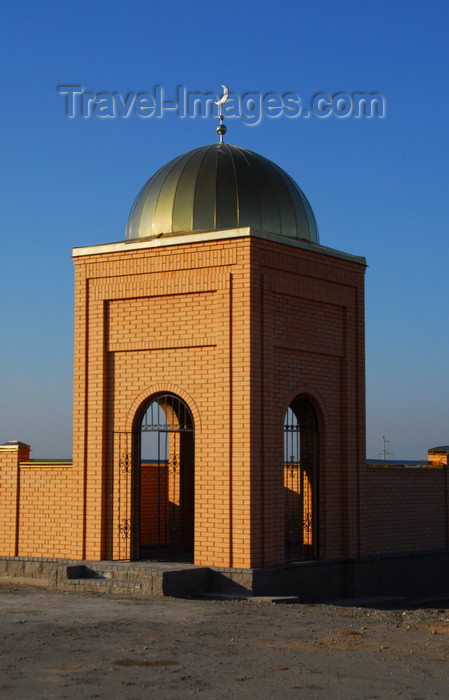
[[[195,563],[284,560],[283,420],[298,394],[319,419],[320,555],[356,556],[364,266],[257,237],[80,255],[75,266],[82,556],[132,556],[117,527],[135,526],[130,485],[114,478],[117,441],[163,391],[195,423]]]

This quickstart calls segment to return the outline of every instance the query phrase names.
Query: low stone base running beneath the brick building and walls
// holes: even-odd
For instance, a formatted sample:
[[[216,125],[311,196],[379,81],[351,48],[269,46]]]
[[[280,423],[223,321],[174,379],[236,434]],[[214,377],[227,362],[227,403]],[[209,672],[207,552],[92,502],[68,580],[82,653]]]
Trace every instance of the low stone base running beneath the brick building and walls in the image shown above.
[[[301,603],[374,597],[449,598],[449,550],[304,561],[262,569],[0,557],[1,576],[47,579],[50,590],[139,597],[290,596]]]

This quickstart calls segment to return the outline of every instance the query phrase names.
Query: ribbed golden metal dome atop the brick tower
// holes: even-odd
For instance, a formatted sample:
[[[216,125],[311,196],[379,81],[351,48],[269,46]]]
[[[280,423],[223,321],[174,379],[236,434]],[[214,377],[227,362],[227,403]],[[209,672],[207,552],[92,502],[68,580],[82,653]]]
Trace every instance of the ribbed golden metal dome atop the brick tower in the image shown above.
[[[217,143],[184,153],[146,182],[125,238],[244,227],[319,243],[312,207],[284,170],[245,148]]]

